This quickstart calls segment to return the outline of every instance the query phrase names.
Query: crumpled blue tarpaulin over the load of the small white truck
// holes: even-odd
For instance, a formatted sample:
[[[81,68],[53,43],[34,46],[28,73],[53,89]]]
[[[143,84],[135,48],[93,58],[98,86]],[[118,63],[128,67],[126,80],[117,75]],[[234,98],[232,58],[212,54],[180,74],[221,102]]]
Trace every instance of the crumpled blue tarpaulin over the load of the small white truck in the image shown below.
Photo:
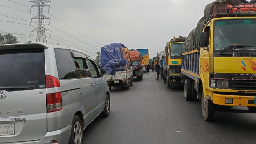
[[[108,46],[101,47],[101,68],[106,69],[107,74],[115,75],[116,70],[125,71],[128,64],[127,59],[123,56],[122,43],[112,43]]]

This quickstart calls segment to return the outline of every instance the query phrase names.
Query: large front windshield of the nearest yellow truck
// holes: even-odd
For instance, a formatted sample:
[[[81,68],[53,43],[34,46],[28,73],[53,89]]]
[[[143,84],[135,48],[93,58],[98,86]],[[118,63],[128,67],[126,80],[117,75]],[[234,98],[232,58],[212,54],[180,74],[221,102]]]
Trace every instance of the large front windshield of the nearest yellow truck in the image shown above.
[[[214,22],[214,50],[256,50],[255,33],[255,19],[217,20]]]

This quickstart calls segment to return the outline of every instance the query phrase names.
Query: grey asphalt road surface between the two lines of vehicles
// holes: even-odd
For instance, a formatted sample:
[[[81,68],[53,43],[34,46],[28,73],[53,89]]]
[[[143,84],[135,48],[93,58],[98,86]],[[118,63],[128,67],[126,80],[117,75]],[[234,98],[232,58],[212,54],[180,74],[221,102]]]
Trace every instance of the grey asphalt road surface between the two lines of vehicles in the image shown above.
[[[112,88],[110,116],[89,124],[83,143],[256,143],[256,114],[215,112],[206,122],[199,101],[186,102],[183,88],[169,90],[155,75]]]

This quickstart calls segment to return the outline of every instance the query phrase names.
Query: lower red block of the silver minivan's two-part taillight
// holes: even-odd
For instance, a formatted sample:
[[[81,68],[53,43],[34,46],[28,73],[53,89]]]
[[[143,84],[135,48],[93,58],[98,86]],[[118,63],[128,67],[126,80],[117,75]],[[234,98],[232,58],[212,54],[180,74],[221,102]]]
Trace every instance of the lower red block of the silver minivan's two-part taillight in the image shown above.
[[[61,92],[46,94],[47,112],[60,111],[62,109]]]

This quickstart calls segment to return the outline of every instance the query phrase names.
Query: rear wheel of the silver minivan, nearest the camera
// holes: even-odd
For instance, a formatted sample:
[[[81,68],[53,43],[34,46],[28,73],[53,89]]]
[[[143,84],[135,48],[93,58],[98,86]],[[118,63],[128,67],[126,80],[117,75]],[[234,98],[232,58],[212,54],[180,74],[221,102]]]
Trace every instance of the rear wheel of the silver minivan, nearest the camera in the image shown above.
[[[83,143],[83,127],[79,116],[75,115],[72,121],[70,144]]]

